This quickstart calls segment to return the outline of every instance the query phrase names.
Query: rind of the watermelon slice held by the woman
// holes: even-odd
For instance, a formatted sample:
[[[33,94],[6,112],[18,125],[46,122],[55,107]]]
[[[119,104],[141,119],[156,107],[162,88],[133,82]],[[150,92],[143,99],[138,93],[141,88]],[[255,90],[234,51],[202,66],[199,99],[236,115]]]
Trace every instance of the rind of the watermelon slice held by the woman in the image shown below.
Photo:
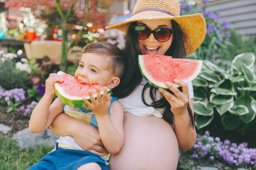
[[[147,80],[147,82],[149,84],[151,84],[152,86],[156,87],[156,88],[169,89],[164,83],[154,82],[153,80],[150,80],[150,77],[151,77],[150,75],[145,75],[146,71],[142,70],[144,68],[142,58],[143,58],[143,55],[138,56],[138,65],[139,65],[139,69],[140,69],[140,72],[141,72],[142,76]],[[185,83],[188,83],[188,82],[192,81],[193,79],[195,79],[198,76],[198,74],[200,73],[200,71],[202,69],[202,65],[203,65],[202,60],[198,60],[198,61],[199,61],[199,63],[198,63],[197,71],[195,71],[194,74],[192,76],[190,76],[189,79],[183,79],[182,81],[184,81]],[[173,85],[175,87],[180,87],[177,84],[173,84]]]

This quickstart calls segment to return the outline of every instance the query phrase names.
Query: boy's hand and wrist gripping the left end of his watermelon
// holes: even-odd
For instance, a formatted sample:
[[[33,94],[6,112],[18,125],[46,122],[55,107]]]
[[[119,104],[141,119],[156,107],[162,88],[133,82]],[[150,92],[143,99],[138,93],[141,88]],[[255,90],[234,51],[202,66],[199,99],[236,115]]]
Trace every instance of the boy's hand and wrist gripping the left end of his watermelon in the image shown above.
[[[64,79],[60,77],[57,73],[51,73],[45,81],[45,94],[55,96],[54,83],[62,83]]]

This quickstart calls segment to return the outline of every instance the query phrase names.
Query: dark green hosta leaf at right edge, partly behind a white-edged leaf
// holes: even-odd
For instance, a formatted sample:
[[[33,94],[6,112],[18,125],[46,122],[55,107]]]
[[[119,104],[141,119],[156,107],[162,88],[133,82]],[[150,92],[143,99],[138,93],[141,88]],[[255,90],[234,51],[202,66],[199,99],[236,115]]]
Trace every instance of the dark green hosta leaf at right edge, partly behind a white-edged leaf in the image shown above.
[[[252,109],[251,107],[251,103],[252,101],[254,101],[254,99],[249,96],[249,95],[245,95],[245,96],[241,96],[240,98],[238,98],[235,102],[235,105],[244,105],[248,108],[249,113],[245,114],[245,115],[241,115],[239,116],[239,118],[245,123],[248,124],[250,123],[254,118],[255,118],[255,114],[256,112]],[[254,106],[254,104],[253,104]]]

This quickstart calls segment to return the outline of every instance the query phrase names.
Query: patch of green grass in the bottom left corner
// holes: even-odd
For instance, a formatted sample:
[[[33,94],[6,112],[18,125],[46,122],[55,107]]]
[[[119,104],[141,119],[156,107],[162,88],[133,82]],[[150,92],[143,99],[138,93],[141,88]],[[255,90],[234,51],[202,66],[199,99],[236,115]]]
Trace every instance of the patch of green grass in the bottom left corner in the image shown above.
[[[27,169],[38,162],[52,147],[19,148],[10,135],[0,134],[0,169]]]

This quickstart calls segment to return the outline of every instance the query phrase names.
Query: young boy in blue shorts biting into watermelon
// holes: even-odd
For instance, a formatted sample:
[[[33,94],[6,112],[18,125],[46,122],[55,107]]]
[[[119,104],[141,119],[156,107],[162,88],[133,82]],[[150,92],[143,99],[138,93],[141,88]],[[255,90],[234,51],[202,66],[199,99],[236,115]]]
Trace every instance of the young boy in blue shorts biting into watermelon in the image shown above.
[[[107,94],[107,88],[113,89],[120,83],[123,75],[124,58],[122,51],[108,42],[97,42],[86,45],[75,77],[80,83],[100,84],[104,87],[101,97],[96,88],[97,100],[88,91],[92,103],[83,101],[88,108],[73,108],[63,104],[58,98],[51,104],[54,92],[54,83],[64,80],[56,73],[50,74],[46,80],[45,94],[32,112],[29,128],[38,133],[48,128],[53,120],[63,111],[99,129],[104,147],[109,152],[104,157],[84,151],[72,136],[60,136],[56,148],[44,156],[32,169],[78,169],[100,170],[107,169],[107,160],[110,154],[117,153],[124,141],[123,108],[117,98]],[[90,121],[88,122],[88,118]]]

